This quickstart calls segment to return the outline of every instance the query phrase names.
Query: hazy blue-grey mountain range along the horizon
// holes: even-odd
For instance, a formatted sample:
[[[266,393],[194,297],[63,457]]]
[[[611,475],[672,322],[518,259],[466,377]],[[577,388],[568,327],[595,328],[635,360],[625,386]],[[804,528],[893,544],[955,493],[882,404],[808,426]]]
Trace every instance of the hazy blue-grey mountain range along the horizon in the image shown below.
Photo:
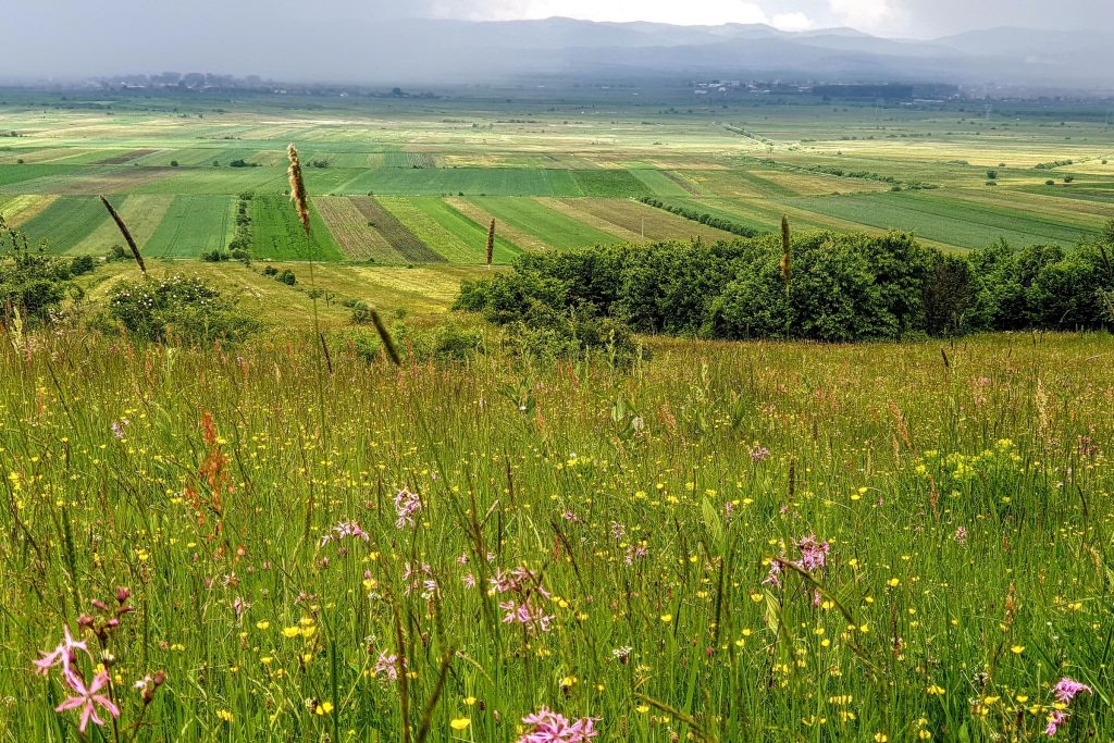
[[[1114,90],[1114,32],[997,28],[931,41],[849,28],[668,26],[550,18],[421,20],[391,28],[414,78],[545,74],[782,76],[825,81],[937,81]],[[409,50],[409,53],[407,52]],[[453,60],[446,65],[446,56]],[[395,57],[395,61],[401,61]]]

